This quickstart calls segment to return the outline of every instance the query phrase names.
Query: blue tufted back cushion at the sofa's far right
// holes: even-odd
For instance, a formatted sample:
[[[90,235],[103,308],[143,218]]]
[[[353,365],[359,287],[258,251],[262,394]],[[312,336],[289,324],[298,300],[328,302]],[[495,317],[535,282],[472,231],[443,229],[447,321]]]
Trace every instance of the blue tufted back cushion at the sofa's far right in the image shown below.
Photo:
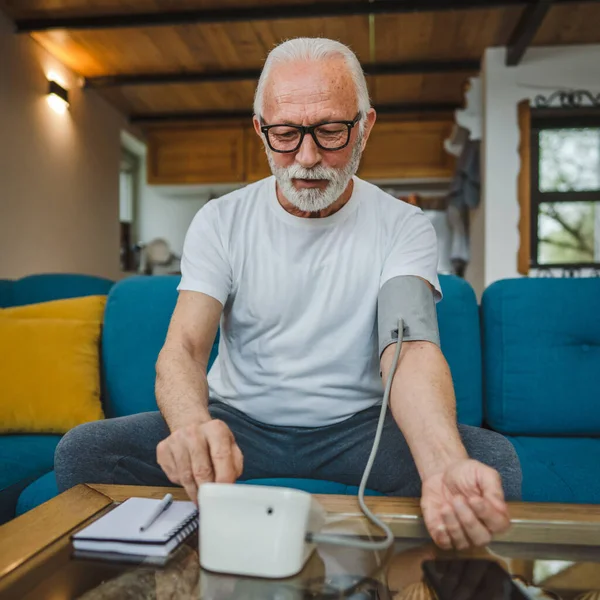
[[[600,279],[511,279],[482,300],[486,420],[510,435],[598,435]]]

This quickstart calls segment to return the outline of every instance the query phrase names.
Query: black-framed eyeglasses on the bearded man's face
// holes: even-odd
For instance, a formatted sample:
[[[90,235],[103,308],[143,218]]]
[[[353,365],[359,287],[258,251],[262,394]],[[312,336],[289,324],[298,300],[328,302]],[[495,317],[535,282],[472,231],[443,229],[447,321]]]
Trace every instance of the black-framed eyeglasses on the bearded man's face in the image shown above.
[[[260,130],[273,152],[296,152],[308,133],[322,150],[341,150],[348,145],[352,128],[360,121],[358,113],[352,121],[328,121],[304,127],[302,125],[263,125]]]

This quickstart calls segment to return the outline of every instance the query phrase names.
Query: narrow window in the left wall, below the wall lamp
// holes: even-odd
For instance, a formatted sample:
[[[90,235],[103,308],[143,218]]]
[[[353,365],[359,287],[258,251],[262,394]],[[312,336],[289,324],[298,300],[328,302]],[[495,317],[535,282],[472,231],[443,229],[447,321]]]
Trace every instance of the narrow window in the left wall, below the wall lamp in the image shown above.
[[[133,248],[135,214],[140,177],[140,158],[123,148],[119,173],[119,220],[121,223],[121,270],[136,269]]]

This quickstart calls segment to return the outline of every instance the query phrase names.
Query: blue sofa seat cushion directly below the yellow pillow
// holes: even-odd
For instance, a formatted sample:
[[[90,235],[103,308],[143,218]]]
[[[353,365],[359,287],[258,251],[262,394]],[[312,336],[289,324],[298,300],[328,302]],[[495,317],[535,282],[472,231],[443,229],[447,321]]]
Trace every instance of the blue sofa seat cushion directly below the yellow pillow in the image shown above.
[[[0,490],[54,468],[60,435],[0,435]]]

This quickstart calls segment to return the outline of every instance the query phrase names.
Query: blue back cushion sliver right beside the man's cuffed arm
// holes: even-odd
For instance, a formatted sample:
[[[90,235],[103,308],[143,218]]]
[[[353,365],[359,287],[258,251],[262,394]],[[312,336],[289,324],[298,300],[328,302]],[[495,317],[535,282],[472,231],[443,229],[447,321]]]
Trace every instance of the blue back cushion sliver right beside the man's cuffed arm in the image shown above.
[[[437,304],[442,352],[456,393],[457,416],[464,425],[481,425],[481,334],[475,292],[464,280],[440,275],[444,299]]]

